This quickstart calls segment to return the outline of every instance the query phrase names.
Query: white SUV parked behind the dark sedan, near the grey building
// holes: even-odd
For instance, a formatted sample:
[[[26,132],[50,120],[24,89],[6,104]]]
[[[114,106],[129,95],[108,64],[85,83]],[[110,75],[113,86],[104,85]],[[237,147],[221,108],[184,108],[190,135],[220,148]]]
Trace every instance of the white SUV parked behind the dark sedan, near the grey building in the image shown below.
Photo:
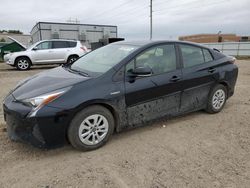
[[[18,70],[28,70],[32,65],[71,63],[87,52],[80,41],[43,40],[26,51],[6,54],[4,61]]]

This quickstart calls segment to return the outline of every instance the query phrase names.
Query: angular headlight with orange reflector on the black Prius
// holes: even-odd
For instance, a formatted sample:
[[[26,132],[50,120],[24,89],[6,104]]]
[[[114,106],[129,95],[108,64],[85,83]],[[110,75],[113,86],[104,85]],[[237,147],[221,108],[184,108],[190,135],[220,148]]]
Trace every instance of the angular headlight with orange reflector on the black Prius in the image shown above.
[[[58,97],[60,97],[63,93],[65,93],[66,91],[68,91],[71,87],[67,87],[67,88],[63,88],[63,89],[59,89],[56,91],[53,91],[51,93],[47,93],[44,95],[40,95],[38,97],[33,97],[30,99],[24,99],[21,102],[23,102],[24,104],[31,106],[33,109],[32,111],[29,113],[29,117],[33,117],[36,115],[37,111],[44,105],[52,102],[53,100],[57,99]]]

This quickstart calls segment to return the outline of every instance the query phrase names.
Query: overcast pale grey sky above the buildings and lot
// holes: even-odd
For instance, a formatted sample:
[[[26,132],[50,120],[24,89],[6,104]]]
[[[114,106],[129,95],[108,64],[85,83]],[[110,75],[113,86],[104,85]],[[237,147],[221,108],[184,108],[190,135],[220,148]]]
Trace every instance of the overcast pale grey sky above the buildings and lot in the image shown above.
[[[200,33],[250,36],[250,0],[153,0],[153,39]],[[0,30],[29,34],[39,21],[118,26],[118,37],[149,39],[150,0],[0,0]]]

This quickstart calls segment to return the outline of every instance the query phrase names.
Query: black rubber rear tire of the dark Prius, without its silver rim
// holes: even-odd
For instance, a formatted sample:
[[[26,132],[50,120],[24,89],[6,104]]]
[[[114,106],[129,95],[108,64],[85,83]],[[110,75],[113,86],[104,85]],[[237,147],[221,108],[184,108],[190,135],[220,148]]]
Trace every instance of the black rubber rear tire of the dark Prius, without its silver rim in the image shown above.
[[[218,108],[216,108],[215,105],[213,105],[213,97],[217,92],[221,90],[224,92],[224,100],[223,102],[221,102]],[[222,99],[220,101],[222,101]],[[223,109],[223,107],[226,104],[226,101],[227,101],[227,88],[224,85],[218,84],[210,91],[206,111],[210,114],[218,113]]]

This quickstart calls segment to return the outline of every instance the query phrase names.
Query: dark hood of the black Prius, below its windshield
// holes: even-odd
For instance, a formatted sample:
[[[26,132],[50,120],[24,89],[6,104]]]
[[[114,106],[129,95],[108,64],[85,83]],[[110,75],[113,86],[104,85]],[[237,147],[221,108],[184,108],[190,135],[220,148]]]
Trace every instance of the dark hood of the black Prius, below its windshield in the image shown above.
[[[17,100],[37,97],[90,79],[57,67],[21,81],[12,94]]]

